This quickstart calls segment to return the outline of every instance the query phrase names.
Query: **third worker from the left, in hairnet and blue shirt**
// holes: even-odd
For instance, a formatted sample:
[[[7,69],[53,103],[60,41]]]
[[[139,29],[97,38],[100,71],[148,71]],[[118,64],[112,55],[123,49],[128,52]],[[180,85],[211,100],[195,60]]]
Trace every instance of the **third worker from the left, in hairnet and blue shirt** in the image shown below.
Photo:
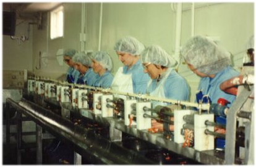
[[[94,86],[110,88],[114,77],[110,72],[112,69],[112,61],[109,54],[102,51],[94,52],[91,59],[92,69],[98,74]]]

